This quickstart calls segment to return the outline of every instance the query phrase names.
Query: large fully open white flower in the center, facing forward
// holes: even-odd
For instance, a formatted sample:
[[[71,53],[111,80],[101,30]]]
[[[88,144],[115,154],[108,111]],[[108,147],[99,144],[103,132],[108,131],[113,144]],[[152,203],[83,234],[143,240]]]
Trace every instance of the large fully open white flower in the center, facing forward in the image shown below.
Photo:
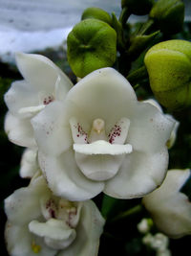
[[[53,193],[70,200],[138,198],[166,175],[174,122],[140,103],[113,68],[96,70],[32,119],[39,162]]]

